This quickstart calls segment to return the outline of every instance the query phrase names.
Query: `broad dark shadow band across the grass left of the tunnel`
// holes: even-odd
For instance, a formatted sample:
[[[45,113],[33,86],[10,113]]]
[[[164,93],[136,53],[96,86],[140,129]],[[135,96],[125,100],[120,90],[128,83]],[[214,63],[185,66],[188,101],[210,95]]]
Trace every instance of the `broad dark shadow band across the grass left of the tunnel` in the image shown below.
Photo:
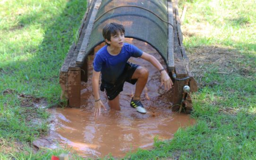
[[[0,90],[13,89],[25,94],[46,97],[50,101],[60,97],[59,72],[72,45],[86,11],[85,0],[69,0],[62,13],[52,20],[38,22],[34,12],[19,22],[21,25],[47,23],[42,43],[34,48],[26,60],[15,60],[0,68],[3,79]],[[41,19],[43,13],[36,13]],[[45,24],[47,26],[47,24]],[[51,25],[49,25],[51,24]],[[44,24],[42,24],[44,25]]]

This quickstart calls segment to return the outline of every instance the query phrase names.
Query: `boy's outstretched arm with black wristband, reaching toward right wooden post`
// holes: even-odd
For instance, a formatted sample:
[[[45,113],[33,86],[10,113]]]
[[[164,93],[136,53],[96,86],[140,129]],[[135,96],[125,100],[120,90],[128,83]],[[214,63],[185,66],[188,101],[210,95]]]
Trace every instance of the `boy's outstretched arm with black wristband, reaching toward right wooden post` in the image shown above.
[[[161,71],[161,85],[164,84],[164,88],[167,90],[171,89],[171,86],[173,85],[172,80],[169,77],[168,73],[165,70],[162,70],[162,64],[160,64],[160,62],[154,56],[151,56],[145,52],[143,52],[140,57],[154,65],[154,67],[157,68],[158,71]]]

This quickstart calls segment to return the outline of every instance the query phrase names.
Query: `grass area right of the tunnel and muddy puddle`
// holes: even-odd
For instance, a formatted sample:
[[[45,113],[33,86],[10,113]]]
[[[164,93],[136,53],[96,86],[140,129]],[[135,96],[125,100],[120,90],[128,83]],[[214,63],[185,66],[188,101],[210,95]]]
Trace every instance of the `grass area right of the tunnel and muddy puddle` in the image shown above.
[[[256,6],[253,0],[181,0],[182,23],[199,90],[195,126],[127,159],[256,159]],[[242,6],[242,7],[241,7]],[[223,59],[222,59],[223,58]]]

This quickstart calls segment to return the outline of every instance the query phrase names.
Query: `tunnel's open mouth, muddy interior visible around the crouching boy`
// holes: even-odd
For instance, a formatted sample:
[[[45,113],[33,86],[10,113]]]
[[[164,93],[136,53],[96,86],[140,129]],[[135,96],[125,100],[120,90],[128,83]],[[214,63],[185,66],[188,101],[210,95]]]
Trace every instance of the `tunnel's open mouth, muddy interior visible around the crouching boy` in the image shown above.
[[[137,40],[134,38],[125,38],[125,42],[129,44],[135,45],[137,48],[141,49],[142,51],[154,56],[166,69],[166,63],[164,59],[162,58],[161,54],[150,44],[146,43],[145,41]],[[93,60],[96,52],[101,49],[103,46],[105,46],[105,42],[100,42],[97,46],[95,46],[93,49],[91,49],[90,54],[86,57],[86,61],[84,62],[87,67],[86,70],[81,72],[81,107],[84,106],[84,102],[88,100],[89,95],[83,95],[85,93],[85,90],[90,90],[92,92],[92,72],[93,72]],[[164,89],[164,86],[161,86],[161,74],[160,72],[149,62],[141,59],[141,58],[134,58],[130,57],[128,62],[139,64],[140,66],[145,67],[149,71],[149,78],[148,82],[145,86],[144,91],[142,92],[142,99],[144,100],[151,100],[152,98],[156,98],[157,96],[165,96],[166,97],[166,103],[168,103],[169,108],[172,107],[172,101],[173,101],[173,89],[166,91]],[[83,64],[83,66],[85,66]],[[83,70],[83,69],[81,69]],[[87,73],[87,75],[85,75]],[[84,78],[84,76],[86,78]],[[88,83],[88,84],[87,84]],[[99,85],[101,84],[101,78]],[[90,88],[88,88],[90,86]],[[135,85],[131,84],[125,84],[124,87],[124,95],[129,96],[130,98],[133,96],[135,91]],[[92,94],[92,93],[91,93]],[[104,92],[100,91],[100,94],[102,95],[101,98],[105,101],[107,101],[107,98],[105,96]],[[123,95],[120,93],[120,95]],[[152,95],[152,96],[151,96]],[[92,95],[90,96],[92,99]],[[127,105],[129,106],[129,104]]]

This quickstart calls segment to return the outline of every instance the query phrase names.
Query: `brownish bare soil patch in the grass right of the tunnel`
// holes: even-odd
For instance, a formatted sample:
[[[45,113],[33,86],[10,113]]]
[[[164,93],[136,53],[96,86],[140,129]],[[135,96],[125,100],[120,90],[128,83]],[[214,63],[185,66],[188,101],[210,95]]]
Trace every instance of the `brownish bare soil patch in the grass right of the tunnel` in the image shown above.
[[[217,70],[218,74],[237,73],[250,78],[256,69],[250,65],[242,64],[245,56],[234,48],[223,48],[218,46],[200,46],[186,50],[190,60],[190,71],[196,78],[198,87],[213,87],[218,85],[217,81],[206,83],[202,80],[207,70]]]

